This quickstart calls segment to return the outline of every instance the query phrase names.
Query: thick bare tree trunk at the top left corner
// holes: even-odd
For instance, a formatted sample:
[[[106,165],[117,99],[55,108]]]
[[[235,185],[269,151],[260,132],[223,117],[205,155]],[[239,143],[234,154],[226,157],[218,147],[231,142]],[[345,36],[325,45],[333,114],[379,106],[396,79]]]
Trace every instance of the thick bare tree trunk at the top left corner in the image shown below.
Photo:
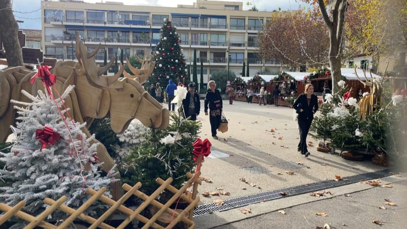
[[[18,24],[14,18],[10,0],[0,0],[0,41],[6,51],[8,66],[24,66],[20,42],[18,41]]]

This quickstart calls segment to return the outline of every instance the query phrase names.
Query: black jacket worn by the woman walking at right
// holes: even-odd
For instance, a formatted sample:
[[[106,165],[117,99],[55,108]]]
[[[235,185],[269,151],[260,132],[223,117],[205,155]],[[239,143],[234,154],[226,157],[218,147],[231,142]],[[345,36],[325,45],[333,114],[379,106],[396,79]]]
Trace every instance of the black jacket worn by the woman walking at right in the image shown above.
[[[307,94],[301,94],[294,102],[293,108],[298,113],[299,120],[312,120],[314,113],[318,110],[318,97],[311,95],[311,101],[307,102]],[[303,111],[300,111],[303,109]]]

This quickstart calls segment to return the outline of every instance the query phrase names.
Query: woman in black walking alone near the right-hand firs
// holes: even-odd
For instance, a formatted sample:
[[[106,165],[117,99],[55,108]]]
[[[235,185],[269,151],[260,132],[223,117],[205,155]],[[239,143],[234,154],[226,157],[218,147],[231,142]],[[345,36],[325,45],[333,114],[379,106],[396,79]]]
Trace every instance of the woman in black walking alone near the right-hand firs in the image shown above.
[[[313,93],[313,85],[310,83],[306,84],[304,94],[301,94],[293,105],[298,113],[298,127],[300,129],[298,151],[305,155],[305,157],[310,155],[307,149],[307,135],[314,119],[314,113],[318,110],[318,97]]]

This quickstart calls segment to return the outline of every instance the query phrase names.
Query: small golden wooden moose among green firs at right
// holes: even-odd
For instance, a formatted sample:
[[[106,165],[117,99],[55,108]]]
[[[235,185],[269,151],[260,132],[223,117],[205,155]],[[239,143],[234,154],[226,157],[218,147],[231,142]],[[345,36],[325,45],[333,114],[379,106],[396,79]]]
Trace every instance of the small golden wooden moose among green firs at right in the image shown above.
[[[387,71],[387,67],[385,70],[385,74]],[[366,81],[363,81],[358,73],[356,72],[356,65],[355,65],[355,75],[359,79],[359,81],[365,86],[370,88],[370,93],[363,96],[359,102],[360,110],[359,115],[362,119],[366,119],[367,115],[371,115],[374,109],[380,108],[382,105],[382,94],[383,94],[383,79],[376,79],[373,77],[371,71],[370,73],[370,80],[366,77],[366,70],[363,69],[363,75]]]

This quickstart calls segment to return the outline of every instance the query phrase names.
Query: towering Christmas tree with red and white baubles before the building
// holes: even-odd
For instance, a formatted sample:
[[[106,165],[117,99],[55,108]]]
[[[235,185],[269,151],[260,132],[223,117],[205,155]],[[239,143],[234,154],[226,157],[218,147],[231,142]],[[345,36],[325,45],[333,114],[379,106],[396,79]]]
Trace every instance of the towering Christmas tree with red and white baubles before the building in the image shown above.
[[[176,32],[176,27],[172,26],[170,20],[164,18],[160,41],[153,54],[154,72],[148,78],[147,85],[160,82],[160,85],[165,89],[169,79],[172,79],[176,84],[185,80],[189,81],[189,77],[186,77],[188,70],[180,45],[181,40]]]

